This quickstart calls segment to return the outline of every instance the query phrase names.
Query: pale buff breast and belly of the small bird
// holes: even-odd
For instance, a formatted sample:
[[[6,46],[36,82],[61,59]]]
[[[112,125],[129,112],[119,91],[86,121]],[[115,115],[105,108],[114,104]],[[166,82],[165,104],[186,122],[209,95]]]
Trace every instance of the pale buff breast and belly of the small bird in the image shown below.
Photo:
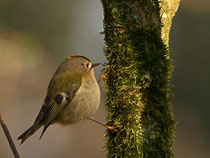
[[[95,78],[82,79],[81,86],[72,101],[63,110],[59,122],[72,124],[90,118],[100,104],[100,89]]]

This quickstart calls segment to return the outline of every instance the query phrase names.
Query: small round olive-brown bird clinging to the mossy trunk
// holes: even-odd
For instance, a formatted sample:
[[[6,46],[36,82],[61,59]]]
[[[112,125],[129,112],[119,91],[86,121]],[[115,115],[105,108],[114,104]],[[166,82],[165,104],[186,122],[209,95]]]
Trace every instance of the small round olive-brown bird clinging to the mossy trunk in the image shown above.
[[[71,125],[86,119],[98,123],[91,118],[100,104],[100,89],[93,70],[98,65],[83,55],[68,56],[59,65],[34,124],[18,137],[21,144],[42,126],[40,139],[54,123]]]

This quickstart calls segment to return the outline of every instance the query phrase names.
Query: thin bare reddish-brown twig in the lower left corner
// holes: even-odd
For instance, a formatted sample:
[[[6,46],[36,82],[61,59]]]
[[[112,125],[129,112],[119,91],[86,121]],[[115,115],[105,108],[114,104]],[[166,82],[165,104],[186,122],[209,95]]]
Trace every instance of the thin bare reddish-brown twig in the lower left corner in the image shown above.
[[[1,115],[1,113],[0,113],[0,123],[1,123],[1,126],[2,126],[3,130],[4,130],[5,135],[7,137],[7,140],[9,142],[10,148],[12,149],[13,155],[15,156],[15,158],[20,158],[20,156],[19,156],[19,154],[17,152],[17,149],[15,147],[15,144],[14,144],[14,142],[12,140],[12,137],[11,137],[11,135],[9,133],[9,130],[8,130],[4,120],[3,120],[3,117]]]

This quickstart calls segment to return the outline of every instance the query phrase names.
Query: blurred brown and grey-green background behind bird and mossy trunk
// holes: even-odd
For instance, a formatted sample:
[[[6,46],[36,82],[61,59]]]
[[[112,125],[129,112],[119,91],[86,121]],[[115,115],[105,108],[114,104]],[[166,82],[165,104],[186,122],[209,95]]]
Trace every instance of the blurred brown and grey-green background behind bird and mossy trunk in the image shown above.
[[[93,122],[53,125],[19,145],[58,64],[71,54],[105,62],[98,0],[0,1],[0,112],[22,158],[103,158],[105,129]],[[210,158],[210,1],[182,0],[170,32],[176,158]],[[96,77],[103,67],[96,68]],[[94,118],[105,122],[104,93]],[[0,129],[0,157],[13,157]]]

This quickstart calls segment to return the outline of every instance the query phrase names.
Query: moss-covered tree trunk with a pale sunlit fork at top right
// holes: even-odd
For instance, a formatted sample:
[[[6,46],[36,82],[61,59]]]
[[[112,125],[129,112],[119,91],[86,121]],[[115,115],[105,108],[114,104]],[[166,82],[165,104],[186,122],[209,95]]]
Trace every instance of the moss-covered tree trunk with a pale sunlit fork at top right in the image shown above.
[[[107,124],[116,127],[106,134],[107,157],[173,157],[168,34],[179,0],[101,1]]]

